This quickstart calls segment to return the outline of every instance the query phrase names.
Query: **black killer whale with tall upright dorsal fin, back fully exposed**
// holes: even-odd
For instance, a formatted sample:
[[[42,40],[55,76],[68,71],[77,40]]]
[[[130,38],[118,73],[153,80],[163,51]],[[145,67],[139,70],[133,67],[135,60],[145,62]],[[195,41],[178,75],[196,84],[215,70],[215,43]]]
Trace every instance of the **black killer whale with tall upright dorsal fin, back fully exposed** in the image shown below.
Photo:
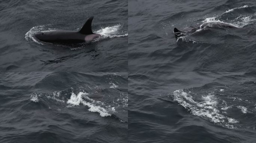
[[[89,18],[80,31],[48,31],[35,34],[36,38],[48,43],[81,43],[96,39],[100,34],[92,32],[92,19]]]

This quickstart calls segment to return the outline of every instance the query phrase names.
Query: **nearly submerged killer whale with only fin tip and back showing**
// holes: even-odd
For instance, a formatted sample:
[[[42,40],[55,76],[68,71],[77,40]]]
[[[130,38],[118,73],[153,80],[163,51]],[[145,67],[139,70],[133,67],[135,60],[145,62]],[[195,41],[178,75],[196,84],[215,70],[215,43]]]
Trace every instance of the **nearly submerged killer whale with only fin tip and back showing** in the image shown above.
[[[223,28],[223,27],[227,27],[227,28],[238,28],[238,27],[236,27],[236,26],[234,26],[234,25],[231,25],[231,24],[229,24],[229,23],[222,23],[222,22],[206,22],[206,23],[203,23],[203,24],[201,24],[200,26],[195,27],[195,28],[192,28],[192,29],[190,29],[190,30],[188,30],[188,31],[180,31],[180,30],[178,30],[177,28],[174,28],[173,33],[174,33],[174,35],[175,35],[175,38],[177,39],[177,38],[179,38],[179,37],[181,37],[181,36],[186,36],[186,33],[194,33],[194,32],[196,32],[197,30],[203,29],[203,28],[205,28],[205,27],[207,27],[207,26],[209,26],[209,27],[216,27],[216,28]]]

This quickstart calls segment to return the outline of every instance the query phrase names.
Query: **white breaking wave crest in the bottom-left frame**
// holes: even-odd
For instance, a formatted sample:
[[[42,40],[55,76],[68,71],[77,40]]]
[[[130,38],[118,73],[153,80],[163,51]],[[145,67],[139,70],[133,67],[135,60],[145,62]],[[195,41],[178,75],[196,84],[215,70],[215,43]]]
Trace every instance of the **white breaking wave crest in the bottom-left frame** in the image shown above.
[[[88,107],[90,112],[98,112],[101,117],[111,116],[116,113],[116,108],[127,107],[128,96],[120,96],[113,101],[97,101],[89,97],[93,93],[79,92],[75,94],[72,88],[65,91],[55,91],[53,93],[33,93],[30,96],[30,101],[40,103],[57,101],[58,104],[64,104],[65,107],[71,108],[79,105]],[[49,101],[50,100],[50,101]],[[49,107],[51,108],[51,107]],[[59,108],[59,107],[58,107]]]

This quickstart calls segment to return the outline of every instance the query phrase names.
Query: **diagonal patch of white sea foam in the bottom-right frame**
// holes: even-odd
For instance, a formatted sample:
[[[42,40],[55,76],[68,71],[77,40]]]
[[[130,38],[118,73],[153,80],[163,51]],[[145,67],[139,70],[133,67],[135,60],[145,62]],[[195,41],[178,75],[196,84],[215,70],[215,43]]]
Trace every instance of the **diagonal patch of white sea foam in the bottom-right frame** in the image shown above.
[[[184,108],[188,109],[191,114],[209,120],[213,123],[233,128],[234,126],[230,125],[230,123],[239,122],[233,118],[220,114],[220,111],[217,109],[218,103],[213,94],[201,96],[201,102],[196,102],[193,99],[193,96],[184,92],[184,90],[176,90],[173,92],[173,99]]]

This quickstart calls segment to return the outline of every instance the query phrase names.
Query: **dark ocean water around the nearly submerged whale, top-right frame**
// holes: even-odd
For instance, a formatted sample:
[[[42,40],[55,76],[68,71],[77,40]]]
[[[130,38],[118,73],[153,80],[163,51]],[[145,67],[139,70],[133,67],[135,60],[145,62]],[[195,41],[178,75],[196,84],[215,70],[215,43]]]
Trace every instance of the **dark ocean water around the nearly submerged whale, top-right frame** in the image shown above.
[[[255,70],[255,0],[130,0],[128,8],[130,71]],[[174,27],[203,23],[208,26],[175,39]]]

